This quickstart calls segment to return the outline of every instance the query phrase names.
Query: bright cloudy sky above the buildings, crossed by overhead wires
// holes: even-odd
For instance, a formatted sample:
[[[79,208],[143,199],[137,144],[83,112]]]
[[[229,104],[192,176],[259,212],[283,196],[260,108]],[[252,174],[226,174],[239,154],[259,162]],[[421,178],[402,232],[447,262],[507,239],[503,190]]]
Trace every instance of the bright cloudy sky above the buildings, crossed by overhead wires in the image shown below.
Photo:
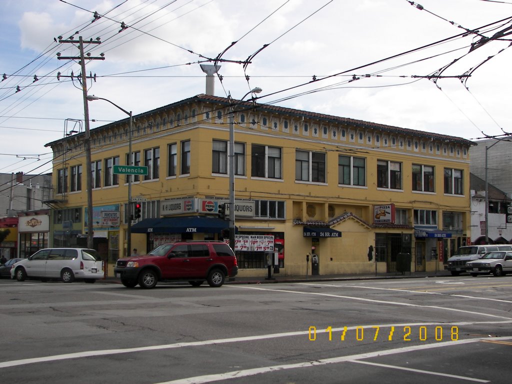
[[[216,96],[259,87],[260,103],[310,112],[469,140],[512,132],[512,0],[3,0],[2,10],[0,173],[50,173],[45,144],[84,129],[80,65],[57,58],[79,56],[78,44],[59,36],[100,38],[84,45],[104,57],[86,60],[88,94],[134,116],[204,93],[200,63],[218,58]],[[127,116],[102,100],[89,115],[91,129]]]

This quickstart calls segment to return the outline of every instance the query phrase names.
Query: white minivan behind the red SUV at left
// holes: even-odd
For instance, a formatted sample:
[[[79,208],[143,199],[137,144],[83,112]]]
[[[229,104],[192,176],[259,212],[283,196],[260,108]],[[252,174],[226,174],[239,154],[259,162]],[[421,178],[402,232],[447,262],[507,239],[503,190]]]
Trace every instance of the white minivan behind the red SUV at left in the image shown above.
[[[14,264],[11,278],[17,281],[60,279],[65,283],[83,279],[94,283],[103,278],[103,262],[94,249],[45,248]]]

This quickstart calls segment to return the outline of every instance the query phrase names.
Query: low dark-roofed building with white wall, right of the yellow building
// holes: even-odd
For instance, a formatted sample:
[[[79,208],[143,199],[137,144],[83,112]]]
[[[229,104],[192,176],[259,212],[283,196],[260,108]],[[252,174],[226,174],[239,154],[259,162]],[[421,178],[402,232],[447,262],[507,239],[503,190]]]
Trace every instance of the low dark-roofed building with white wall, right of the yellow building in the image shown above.
[[[487,244],[485,239],[485,180],[470,175],[471,240],[473,244]],[[488,244],[512,244],[512,223],[507,223],[507,207],[512,200],[493,184],[487,183]]]

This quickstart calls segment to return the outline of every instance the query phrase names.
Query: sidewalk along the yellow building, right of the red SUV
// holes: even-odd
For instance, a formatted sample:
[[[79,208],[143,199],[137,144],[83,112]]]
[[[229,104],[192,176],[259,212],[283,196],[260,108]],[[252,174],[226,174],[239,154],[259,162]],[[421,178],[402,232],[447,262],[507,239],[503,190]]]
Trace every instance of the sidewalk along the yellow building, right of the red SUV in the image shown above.
[[[332,274],[316,276],[284,276],[279,273],[268,276],[258,276],[252,278],[228,279],[224,284],[271,284],[271,283],[305,283],[305,282],[329,282],[329,281],[357,281],[357,280],[386,280],[386,279],[420,279],[420,278],[451,278],[450,271],[437,272],[387,272],[387,273],[365,273],[365,274]]]

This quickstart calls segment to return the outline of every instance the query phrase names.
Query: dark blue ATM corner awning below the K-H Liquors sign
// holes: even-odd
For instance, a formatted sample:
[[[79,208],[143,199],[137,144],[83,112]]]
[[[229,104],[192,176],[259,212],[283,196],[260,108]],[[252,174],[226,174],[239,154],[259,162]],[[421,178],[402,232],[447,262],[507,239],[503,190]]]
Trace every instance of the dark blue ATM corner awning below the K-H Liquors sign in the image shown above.
[[[144,219],[132,225],[133,233],[220,233],[229,222],[208,216],[180,216]]]

